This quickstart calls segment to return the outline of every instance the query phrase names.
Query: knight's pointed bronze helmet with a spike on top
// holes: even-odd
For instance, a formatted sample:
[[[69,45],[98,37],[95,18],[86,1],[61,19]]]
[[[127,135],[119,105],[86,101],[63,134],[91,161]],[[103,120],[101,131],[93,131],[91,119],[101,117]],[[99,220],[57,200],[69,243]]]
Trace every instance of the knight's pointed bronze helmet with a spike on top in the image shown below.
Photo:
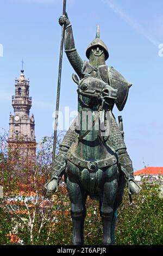
[[[109,58],[109,51],[107,46],[104,44],[104,42],[100,39],[100,31],[99,31],[99,25],[97,25],[97,31],[96,31],[96,38],[89,44],[86,50],[86,57],[90,58],[90,51],[93,47],[100,46],[103,48],[105,53],[105,60]]]

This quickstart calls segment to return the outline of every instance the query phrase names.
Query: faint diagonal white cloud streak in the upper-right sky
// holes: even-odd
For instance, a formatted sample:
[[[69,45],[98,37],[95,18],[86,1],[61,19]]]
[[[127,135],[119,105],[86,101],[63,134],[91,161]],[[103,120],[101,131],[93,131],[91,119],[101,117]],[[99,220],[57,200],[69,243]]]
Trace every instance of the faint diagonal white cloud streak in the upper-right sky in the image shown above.
[[[149,34],[145,28],[143,28],[133,17],[131,17],[126,11],[122,10],[115,2],[112,0],[102,0],[104,3],[108,4],[110,9],[114,11],[123,21],[128,23],[128,25],[133,28],[138,33],[142,34],[149,42],[158,47],[160,42],[156,40],[151,34]]]

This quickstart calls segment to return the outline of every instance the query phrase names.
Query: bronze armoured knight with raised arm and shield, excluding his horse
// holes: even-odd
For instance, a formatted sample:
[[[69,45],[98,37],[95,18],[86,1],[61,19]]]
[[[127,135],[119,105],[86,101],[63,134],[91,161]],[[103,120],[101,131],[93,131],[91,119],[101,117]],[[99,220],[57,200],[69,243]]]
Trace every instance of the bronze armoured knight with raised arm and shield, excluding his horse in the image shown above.
[[[116,99],[112,100],[111,111],[114,105],[117,106],[119,111],[122,111],[126,104],[129,88],[132,85],[117,72],[112,66],[107,66],[105,60],[109,58],[109,51],[104,42],[100,39],[99,27],[97,27],[96,39],[94,39],[86,50],[86,57],[89,62],[83,61],[80,58],[73,38],[72,25],[66,14],[61,16],[59,24],[65,25],[65,52],[69,62],[71,63],[74,71],[76,71],[80,80],[84,77],[93,77],[102,80],[109,84],[112,88],[117,90]],[[74,123],[76,120],[74,120]],[[74,126],[74,123],[72,126]],[[133,166],[130,157],[127,153],[126,144],[123,139],[123,131],[116,123],[116,119],[112,114],[111,117],[111,131],[106,143],[116,152],[120,169],[123,172],[124,179],[128,181],[129,193],[139,193],[140,187],[134,181]],[[57,156],[53,162],[53,172],[51,180],[45,185],[48,192],[57,191],[58,184],[66,169],[66,157],[68,149],[78,137],[76,130],[70,129],[67,131]],[[123,167],[123,168],[121,168]]]

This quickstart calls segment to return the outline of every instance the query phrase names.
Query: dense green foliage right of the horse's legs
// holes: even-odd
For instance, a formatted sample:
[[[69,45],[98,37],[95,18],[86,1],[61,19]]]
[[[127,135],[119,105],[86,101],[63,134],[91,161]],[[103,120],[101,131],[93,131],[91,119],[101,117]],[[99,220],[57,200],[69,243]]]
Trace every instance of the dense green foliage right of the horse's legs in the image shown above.
[[[163,200],[159,198],[157,182],[144,182],[142,191],[128,202],[127,191],[118,211],[116,243],[118,245],[162,245]]]

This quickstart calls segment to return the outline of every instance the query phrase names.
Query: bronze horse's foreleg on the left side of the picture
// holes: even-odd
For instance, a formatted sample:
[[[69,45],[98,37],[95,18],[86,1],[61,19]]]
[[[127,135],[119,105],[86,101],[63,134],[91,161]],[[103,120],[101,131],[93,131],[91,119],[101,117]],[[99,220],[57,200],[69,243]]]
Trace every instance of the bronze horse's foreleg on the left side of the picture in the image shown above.
[[[84,193],[76,182],[67,179],[67,190],[71,201],[71,217],[73,224],[73,245],[84,244],[84,219],[86,216],[86,193]]]

